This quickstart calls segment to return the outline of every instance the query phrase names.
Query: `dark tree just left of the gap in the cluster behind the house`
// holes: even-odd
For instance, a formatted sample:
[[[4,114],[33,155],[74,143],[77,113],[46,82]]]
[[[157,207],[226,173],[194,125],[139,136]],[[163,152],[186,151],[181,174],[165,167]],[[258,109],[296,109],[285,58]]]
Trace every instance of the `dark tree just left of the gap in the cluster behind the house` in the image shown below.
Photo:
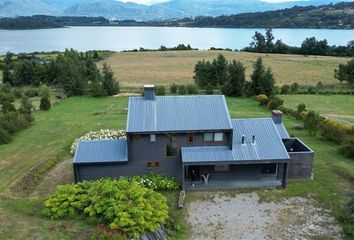
[[[244,94],[245,67],[240,61],[233,60],[228,66],[228,81],[223,86],[223,92],[228,96]]]

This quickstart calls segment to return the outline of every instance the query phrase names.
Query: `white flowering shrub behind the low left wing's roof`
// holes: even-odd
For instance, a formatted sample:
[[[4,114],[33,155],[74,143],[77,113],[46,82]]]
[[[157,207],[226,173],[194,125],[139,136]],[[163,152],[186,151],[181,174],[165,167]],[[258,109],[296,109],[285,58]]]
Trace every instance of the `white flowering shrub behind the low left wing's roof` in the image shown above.
[[[86,135],[77,138],[70,147],[70,153],[75,154],[77,145],[80,141],[88,140],[108,140],[108,139],[127,139],[125,130],[101,129],[99,131],[91,131]]]

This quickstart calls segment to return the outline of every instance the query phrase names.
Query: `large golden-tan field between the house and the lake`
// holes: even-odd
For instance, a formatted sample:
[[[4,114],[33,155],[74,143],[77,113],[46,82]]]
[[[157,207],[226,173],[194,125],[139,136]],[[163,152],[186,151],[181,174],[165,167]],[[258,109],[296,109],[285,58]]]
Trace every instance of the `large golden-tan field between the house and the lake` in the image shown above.
[[[240,60],[246,66],[247,78],[253,63],[262,57],[265,65],[272,68],[277,85],[297,82],[304,85],[338,84],[334,69],[348,58],[260,54],[229,51],[166,51],[125,52],[107,58],[123,87],[142,87],[144,84],[170,85],[193,83],[194,66],[198,60],[212,60],[219,53],[228,60]]]

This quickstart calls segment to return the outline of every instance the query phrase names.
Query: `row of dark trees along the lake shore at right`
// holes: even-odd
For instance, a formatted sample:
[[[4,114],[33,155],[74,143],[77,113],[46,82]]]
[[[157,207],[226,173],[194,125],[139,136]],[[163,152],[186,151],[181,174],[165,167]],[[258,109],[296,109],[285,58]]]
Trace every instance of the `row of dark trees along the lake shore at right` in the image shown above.
[[[271,28],[266,29],[265,35],[256,31],[249,47],[243,49],[246,52],[302,54],[322,56],[354,56],[354,40],[346,46],[329,46],[326,39],[317,40],[315,37],[306,38],[300,47],[289,46],[278,39],[274,42]]]

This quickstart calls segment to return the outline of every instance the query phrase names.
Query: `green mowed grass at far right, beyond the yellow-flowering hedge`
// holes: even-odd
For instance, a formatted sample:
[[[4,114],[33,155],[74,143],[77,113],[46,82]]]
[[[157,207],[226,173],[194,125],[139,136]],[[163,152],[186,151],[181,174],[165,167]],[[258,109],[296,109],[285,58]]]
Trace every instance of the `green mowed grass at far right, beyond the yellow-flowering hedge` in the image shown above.
[[[353,95],[280,95],[284,104],[296,109],[300,103],[305,103],[308,110],[354,124]]]

